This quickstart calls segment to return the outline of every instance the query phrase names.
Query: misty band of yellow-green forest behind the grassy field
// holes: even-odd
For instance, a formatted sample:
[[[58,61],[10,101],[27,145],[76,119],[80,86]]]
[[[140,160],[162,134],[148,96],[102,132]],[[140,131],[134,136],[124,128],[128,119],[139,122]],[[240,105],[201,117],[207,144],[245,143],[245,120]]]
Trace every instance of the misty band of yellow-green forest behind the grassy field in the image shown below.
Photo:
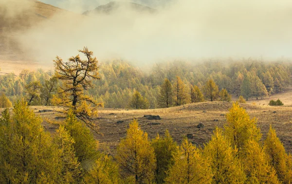
[[[213,97],[211,99],[204,92],[204,86],[210,80],[215,82],[219,92],[225,89],[227,93],[236,97],[242,95],[246,100],[262,99],[290,86],[291,70],[292,65],[288,62],[267,63],[249,59],[197,64],[174,61],[155,64],[150,72],[143,72],[127,62],[113,60],[100,64],[100,80],[94,80],[95,87],[87,93],[106,108],[133,108],[129,99],[137,96],[134,93],[138,91],[145,101],[142,107],[155,109],[165,106],[161,104],[161,91],[165,88],[166,78],[171,84],[167,84],[169,88],[175,90],[179,84],[183,89],[182,99],[172,97],[166,107],[202,101],[203,97],[194,98],[194,93],[199,91],[204,100],[213,101]],[[40,69],[34,72],[23,70],[18,76],[1,75],[0,92],[11,102],[25,97],[31,105],[52,105],[51,99],[59,84],[51,79],[53,74]],[[174,91],[171,93],[175,95]],[[215,100],[220,100],[222,94],[215,93]]]

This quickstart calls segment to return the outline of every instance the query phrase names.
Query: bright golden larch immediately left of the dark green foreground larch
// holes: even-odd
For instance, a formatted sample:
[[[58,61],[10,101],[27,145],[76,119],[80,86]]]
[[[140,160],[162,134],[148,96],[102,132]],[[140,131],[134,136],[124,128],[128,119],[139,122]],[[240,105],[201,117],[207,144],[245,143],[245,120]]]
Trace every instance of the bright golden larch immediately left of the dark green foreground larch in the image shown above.
[[[156,168],[154,149],[135,119],[117,148],[116,160],[126,177],[134,177],[136,184],[152,183]]]

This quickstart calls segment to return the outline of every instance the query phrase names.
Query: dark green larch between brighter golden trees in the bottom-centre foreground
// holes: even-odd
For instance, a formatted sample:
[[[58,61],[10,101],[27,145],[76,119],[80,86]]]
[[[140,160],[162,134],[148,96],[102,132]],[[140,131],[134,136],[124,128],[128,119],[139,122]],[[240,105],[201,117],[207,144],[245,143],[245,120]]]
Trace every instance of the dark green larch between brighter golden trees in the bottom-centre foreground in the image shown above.
[[[173,166],[175,154],[178,152],[176,142],[173,141],[168,130],[165,130],[164,137],[157,137],[151,143],[156,156],[155,181],[163,184],[167,176],[166,171]]]

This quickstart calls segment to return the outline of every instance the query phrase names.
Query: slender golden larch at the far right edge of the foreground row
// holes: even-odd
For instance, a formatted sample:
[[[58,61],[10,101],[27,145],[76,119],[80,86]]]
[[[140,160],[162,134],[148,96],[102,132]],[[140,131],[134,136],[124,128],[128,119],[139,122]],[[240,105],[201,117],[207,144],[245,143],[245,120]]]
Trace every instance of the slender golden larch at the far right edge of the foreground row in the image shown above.
[[[289,184],[292,183],[292,163],[291,158],[285,152],[285,148],[276,135],[276,131],[270,126],[269,133],[264,144],[265,153],[268,161],[277,172],[279,181]]]

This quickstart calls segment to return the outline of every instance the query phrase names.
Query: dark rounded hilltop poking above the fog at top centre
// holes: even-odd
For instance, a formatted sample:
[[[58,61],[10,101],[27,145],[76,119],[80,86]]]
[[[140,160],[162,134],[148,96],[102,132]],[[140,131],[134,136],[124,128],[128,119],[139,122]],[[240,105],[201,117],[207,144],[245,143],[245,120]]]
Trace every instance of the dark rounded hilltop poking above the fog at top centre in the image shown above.
[[[91,15],[91,14],[111,14],[115,11],[127,8],[132,11],[141,12],[141,13],[155,13],[156,10],[153,8],[150,8],[148,6],[144,6],[142,4],[137,4],[133,2],[117,2],[117,1],[111,1],[108,4],[100,5],[94,10],[86,11],[83,13],[83,15]]]

